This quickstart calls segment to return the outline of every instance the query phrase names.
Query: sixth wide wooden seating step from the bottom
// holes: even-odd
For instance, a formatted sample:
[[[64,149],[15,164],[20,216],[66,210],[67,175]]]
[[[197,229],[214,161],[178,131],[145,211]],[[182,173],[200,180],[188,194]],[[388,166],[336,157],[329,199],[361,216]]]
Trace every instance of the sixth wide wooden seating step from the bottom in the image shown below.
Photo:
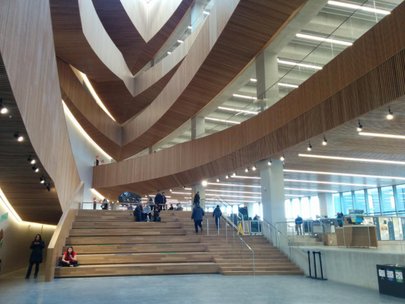
[[[72,228],[182,228],[180,222],[134,222],[134,221],[78,221],[73,222]]]

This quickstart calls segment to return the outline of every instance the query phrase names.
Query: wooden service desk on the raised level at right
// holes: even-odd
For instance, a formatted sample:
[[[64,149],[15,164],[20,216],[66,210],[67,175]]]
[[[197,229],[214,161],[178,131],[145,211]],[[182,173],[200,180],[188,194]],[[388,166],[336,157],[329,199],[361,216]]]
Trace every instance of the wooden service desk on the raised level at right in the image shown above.
[[[336,228],[338,246],[378,247],[375,225],[345,225]]]

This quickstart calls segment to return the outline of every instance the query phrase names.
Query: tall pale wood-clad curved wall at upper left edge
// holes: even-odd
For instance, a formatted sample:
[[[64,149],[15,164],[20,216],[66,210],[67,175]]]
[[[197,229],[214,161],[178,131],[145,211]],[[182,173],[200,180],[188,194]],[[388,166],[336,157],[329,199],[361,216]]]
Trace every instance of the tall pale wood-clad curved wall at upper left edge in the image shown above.
[[[29,140],[63,211],[80,178],[61,103],[48,1],[0,1],[0,52]],[[47,208],[55,206],[38,210]],[[59,219],[60,209],[54,216]]]

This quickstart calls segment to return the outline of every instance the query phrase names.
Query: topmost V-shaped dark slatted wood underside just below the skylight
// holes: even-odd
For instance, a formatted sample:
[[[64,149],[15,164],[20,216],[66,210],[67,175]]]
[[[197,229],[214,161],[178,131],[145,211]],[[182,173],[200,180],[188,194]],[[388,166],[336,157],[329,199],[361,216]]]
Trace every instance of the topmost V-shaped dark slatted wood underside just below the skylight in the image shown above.
[[[183,0],[163,27],[145,42],[119,0],[93,0],[101,23],[134,75],[156,56],[194,2]]]

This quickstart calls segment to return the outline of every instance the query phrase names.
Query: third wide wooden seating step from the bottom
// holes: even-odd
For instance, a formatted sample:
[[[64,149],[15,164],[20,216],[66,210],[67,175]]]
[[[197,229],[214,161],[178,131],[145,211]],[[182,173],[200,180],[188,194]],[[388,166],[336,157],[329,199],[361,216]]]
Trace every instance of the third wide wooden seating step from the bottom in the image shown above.
[[[68,246],[63,246],[63,252]],[[133,245],[77,245],[77,254],[91,253],[149,253],[149,252],[204,252],[207,246],[203,244],[133,244]]]

